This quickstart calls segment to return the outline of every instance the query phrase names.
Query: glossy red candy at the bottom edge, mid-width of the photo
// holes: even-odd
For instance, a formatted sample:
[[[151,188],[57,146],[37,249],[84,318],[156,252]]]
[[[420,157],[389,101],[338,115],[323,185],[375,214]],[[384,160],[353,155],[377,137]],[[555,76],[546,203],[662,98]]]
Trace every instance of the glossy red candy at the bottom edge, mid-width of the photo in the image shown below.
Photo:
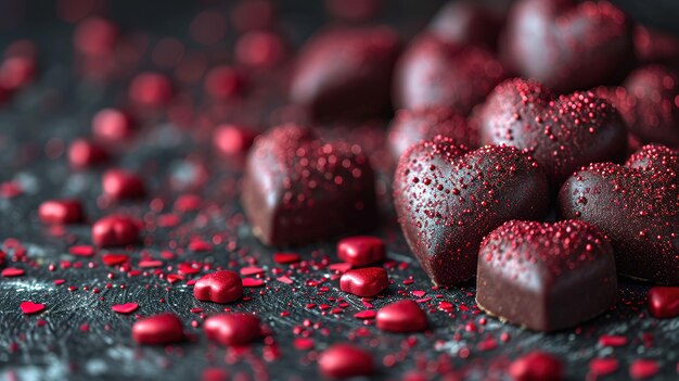
[[[326,378],[369,377],[375,371],[372,355],[351,344],[334,344],[318,359],[319,372]]]

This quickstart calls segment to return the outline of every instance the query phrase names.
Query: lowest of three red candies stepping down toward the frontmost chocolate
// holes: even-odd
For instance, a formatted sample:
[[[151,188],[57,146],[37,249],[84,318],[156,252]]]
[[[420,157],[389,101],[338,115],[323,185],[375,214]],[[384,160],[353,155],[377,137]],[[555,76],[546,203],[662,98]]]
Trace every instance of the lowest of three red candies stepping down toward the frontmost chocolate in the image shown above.
[[[389,332],[420,332],[428,327],[426,313],[415,301],[398,301],[377,312],[377,328]]]

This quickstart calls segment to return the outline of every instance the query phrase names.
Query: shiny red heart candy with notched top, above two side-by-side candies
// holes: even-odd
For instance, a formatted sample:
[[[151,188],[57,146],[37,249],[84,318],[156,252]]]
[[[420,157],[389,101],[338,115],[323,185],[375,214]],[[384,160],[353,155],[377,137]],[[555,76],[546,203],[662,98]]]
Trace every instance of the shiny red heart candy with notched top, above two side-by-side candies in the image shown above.
[[[195,282],[193,296],[204,302],[231,303],[243,296],[243,281],[231,270],[207,274]]]

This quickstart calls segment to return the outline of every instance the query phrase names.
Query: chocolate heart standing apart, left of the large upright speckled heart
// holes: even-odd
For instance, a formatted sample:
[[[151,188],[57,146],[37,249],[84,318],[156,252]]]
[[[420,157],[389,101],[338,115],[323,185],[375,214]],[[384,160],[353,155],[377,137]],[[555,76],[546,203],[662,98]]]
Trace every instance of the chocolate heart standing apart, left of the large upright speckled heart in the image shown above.
[[[286,125],[256,139],[242,202],[262,242],[300,244],[374,227],[374,181],[359,145],[324,142],[311,129]]]

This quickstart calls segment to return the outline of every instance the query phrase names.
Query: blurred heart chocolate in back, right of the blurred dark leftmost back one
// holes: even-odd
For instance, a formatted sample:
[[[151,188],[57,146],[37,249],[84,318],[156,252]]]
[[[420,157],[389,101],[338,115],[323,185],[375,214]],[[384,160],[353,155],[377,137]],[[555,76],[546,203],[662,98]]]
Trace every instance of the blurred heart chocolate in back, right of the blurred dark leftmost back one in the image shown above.
[[[450,106],[466,115],[503,78],[502,65],[488,50],[446,43],[425,34],[399,59],[394,104],[399,109]]]

